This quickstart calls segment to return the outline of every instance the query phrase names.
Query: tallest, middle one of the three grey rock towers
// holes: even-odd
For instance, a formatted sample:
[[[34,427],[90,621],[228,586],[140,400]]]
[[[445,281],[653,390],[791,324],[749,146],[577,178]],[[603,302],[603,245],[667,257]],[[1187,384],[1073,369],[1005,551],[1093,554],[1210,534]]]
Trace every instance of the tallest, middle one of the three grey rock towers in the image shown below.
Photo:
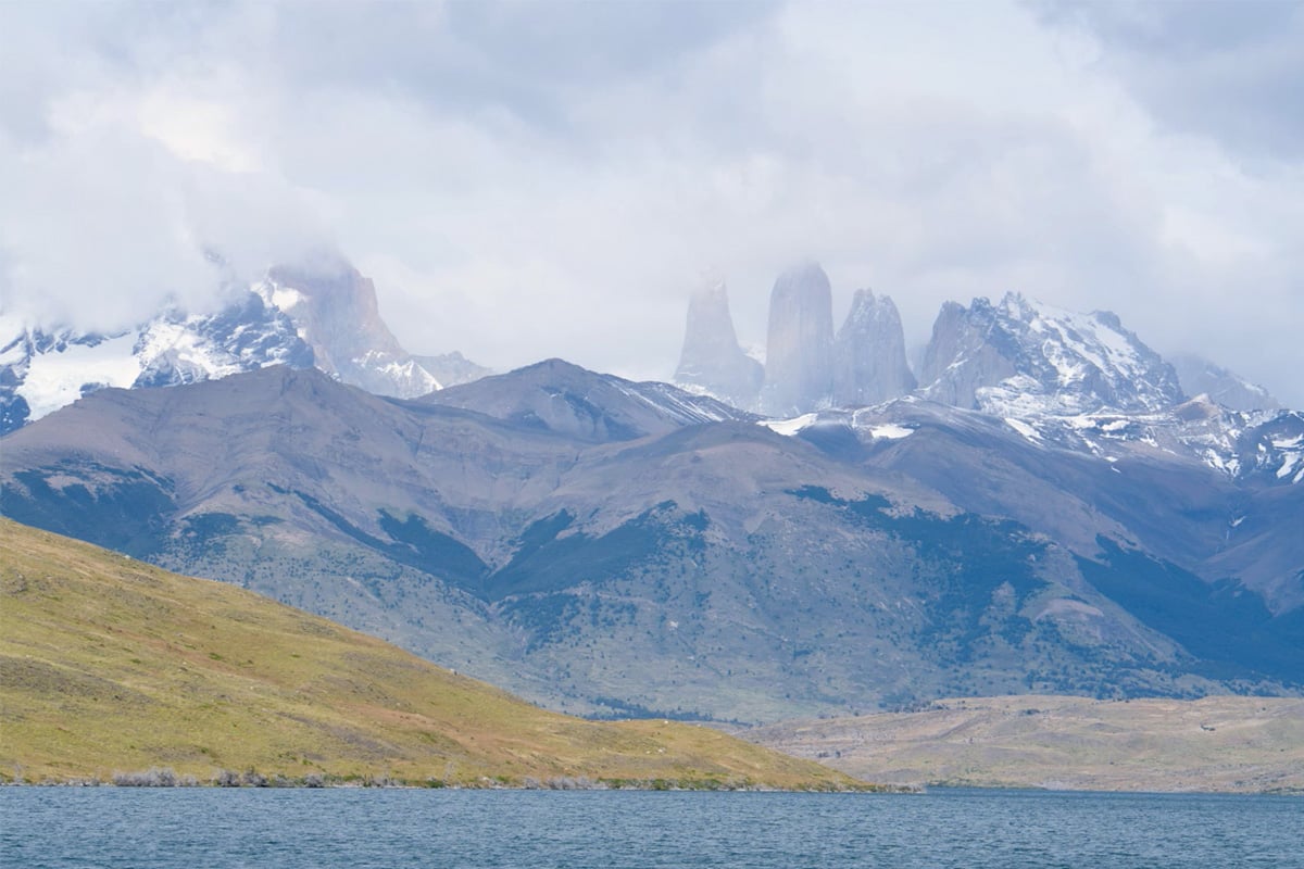
[[[833,291],[818,263],[789,268],[769,294],[765,386],[760,409],[793,416],[827,405],[833,392]]]

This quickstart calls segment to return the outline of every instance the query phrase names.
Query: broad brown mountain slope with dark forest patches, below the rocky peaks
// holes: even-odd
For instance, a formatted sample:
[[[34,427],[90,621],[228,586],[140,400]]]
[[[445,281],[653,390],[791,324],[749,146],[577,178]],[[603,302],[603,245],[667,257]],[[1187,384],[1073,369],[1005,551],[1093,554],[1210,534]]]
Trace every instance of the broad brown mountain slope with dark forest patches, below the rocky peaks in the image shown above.
[[[421,401],[269,369],[98,392],[5,438],[0,486],[10,517],[561,709],[756,722],[1304,676],[1304,487],[919,401],[769,423],[789,434],[703,406],[561,362]],[[1256,550],[1269,571],[1239,576]]]

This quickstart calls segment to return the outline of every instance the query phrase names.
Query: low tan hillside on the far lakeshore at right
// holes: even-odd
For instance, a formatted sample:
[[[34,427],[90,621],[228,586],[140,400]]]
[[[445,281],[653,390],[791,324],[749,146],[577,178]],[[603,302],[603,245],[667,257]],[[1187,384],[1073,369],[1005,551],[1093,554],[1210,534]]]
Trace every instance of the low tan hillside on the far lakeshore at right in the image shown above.
[[[970,697],[746,734],[897,784],[1304,793],[1304,700]]]

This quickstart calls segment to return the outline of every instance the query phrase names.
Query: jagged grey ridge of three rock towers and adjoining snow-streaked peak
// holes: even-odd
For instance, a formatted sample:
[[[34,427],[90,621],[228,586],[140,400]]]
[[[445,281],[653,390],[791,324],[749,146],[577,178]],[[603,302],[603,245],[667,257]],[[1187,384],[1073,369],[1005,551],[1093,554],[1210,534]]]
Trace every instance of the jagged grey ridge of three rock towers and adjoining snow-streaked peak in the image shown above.
[[[764,366],[738,347],[724,283],[694,294],[674,380],[775,417],[906,395],[1001,417],[1158,412],[1202,393],[1232,410],[1279,409],[1226,369],[1176,362],[1111,311],[1077,314],[1008,293],[999,304],[943,305],[911,371],[892,300],[857,291],[835,335],[828,275],[806,262],[775,281]]]

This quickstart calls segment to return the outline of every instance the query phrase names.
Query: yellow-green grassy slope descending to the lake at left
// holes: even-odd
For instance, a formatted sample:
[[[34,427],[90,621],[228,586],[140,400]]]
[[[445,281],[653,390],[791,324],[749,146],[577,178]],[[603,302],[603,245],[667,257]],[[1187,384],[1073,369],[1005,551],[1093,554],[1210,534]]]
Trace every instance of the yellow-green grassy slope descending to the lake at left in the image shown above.
[[[0,519],[0,779],[855,788],[704,727],[596,723],[222,582]]]

